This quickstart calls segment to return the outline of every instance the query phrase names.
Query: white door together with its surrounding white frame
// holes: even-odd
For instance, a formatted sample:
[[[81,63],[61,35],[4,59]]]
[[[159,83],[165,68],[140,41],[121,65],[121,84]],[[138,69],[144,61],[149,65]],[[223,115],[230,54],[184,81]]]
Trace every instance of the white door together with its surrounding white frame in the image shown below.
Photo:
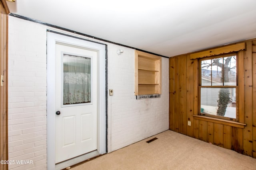
[[[48,30],[47,169],[104,153],[106,45]]]

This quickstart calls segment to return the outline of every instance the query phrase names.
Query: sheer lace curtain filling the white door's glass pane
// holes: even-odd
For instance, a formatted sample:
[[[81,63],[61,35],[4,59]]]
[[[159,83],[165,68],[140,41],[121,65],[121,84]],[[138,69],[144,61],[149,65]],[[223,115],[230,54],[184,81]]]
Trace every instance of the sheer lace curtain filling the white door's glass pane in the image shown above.
[[[91,101],[91,59],[63,55],[63,104]]]

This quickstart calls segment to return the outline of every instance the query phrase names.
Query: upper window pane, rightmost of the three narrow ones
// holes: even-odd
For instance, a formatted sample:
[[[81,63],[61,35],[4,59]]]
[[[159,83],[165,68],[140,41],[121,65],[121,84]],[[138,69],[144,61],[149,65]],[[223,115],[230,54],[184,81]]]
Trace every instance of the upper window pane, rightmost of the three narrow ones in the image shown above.
[[[236,56],[224,57],[224,86],[236,86]]]

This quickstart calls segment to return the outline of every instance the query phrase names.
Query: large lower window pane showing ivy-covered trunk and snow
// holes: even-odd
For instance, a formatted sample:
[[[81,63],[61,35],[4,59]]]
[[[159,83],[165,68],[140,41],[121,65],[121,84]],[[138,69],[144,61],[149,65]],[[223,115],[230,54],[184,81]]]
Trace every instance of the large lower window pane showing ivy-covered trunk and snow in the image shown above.
[[[201,113],[236,118],[236,88],[201,88]]]

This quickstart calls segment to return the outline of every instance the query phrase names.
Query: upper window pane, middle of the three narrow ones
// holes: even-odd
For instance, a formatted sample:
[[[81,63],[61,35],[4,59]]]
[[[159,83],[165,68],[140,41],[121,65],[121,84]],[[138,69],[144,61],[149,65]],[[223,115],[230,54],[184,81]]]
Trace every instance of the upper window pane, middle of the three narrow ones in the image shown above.
[[[212,59],[212,86],[223,86],[223,58]]]

